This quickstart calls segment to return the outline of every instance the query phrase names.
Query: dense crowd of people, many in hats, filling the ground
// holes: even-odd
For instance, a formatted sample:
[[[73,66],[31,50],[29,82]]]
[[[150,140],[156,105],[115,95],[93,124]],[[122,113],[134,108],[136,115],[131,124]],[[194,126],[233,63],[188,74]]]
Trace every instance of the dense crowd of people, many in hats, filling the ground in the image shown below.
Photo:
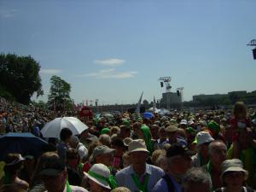
[[[0,100],[0,130],[42,137],[44,124],[78,113],[51,112]],[[40,155],[6,154],[0,191],[251,192],[256,188],[256,110],[116,113],[81,118],[89,128],[38,148]],[[79,118],[79,117],[78,117]]]

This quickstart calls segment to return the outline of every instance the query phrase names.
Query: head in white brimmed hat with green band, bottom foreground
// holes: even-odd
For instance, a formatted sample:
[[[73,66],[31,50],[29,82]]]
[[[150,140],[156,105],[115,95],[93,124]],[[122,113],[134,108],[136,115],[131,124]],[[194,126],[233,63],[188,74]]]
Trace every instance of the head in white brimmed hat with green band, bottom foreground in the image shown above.
[[[89,178],[90,192],[109,192],[116,188],[108,166],[101,163],[94,164],[89,172],[84,174]]]

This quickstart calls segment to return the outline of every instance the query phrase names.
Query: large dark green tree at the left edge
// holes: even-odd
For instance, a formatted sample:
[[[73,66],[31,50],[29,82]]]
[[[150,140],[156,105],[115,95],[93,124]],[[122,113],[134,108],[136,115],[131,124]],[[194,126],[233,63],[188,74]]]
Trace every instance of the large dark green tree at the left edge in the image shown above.
[[[28,104],[35,92],[38,96],[44,94],[39,70],[39,63],[30,55],[0,54],[0,90],[7,97]]]

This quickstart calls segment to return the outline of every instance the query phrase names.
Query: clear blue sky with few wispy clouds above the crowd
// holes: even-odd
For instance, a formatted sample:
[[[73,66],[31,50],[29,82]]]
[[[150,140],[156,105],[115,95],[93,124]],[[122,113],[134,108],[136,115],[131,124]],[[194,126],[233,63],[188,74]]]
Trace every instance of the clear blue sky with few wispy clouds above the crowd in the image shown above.
[[[32,55],[75,102],[135,103],[161,97],[172,77],[184,100],[256,90],[254,0],[0,0],[0,51]]]

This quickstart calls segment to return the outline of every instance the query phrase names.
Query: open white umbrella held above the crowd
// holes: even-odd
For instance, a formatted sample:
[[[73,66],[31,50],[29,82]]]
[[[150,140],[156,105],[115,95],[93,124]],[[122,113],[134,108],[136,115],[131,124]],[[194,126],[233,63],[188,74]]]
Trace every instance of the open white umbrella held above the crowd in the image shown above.
[[[43,137],[60,138],[61,129],[65,127],[70,129],[73,132],[73,135],[79,135],[81,132],[88,129],[88,126],[84,125],[84,123],[77,118],[63,117],[49,121],[44,125],[41,133]]]

